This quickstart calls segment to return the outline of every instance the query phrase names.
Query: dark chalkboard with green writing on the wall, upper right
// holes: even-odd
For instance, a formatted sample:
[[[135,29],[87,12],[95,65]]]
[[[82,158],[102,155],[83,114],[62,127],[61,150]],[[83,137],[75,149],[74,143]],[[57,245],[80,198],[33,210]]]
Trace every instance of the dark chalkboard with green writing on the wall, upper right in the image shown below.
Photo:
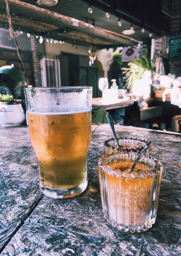
[[[181,60],[181,36],[170,37],[169,60]]]

